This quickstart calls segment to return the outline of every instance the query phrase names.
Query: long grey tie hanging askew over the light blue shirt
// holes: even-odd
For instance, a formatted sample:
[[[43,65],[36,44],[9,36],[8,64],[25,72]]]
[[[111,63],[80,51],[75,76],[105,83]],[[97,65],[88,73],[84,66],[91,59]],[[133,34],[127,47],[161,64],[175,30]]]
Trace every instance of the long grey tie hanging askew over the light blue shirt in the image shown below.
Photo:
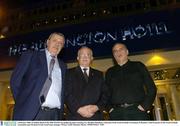
[[[54,67],[54,63],[55,63],[55,56],[51,56],[51,61],[50,61],[50,64],[49,64],[49,75],[44,83],[44,86],[41,90],[41,93],[40,93],[40,103],[42,104],[45,99],[46,99],[46,96],[47,96],[47,93],[49,91],[49,88],[51,86],[51,83],[52,83],[52,71],[53,71],[53,67]]]

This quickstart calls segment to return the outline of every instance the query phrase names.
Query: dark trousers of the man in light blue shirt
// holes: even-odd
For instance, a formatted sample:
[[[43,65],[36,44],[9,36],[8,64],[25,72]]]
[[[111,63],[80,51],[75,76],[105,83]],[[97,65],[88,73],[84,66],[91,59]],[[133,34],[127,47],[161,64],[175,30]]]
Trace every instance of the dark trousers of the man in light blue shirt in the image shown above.
[[[60,109],[39,109],[34,120],[62,120]]]

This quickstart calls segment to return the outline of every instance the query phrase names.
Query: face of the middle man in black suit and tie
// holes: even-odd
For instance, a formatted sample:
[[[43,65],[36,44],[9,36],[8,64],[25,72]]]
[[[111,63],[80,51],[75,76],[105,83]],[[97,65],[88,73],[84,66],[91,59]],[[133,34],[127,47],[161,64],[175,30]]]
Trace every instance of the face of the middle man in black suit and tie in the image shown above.
[[[91,50],[88,48],[80,49],[77,60],[80,66],[89,67],[91,64],[91,61],[93,60]]]

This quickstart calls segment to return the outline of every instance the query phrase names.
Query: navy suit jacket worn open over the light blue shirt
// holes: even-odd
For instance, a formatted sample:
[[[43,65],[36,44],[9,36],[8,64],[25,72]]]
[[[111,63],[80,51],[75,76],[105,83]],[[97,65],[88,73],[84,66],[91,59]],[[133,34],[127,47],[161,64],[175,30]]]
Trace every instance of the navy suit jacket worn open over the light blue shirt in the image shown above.
[[[59,60],[62,72],[62,108],[66,65]],[[48,76],[45,51],[25,52],[11,76],[11,90],[15,100],[14,120],[33,120],[40,109],[39,94]],[[62,113],[62,112],[61,112]]]

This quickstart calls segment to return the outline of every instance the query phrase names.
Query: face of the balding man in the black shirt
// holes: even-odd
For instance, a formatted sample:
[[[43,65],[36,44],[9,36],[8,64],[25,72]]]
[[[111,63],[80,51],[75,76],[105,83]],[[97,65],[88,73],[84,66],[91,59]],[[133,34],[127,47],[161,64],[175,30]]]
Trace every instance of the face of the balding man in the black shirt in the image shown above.
[[[117,63],[123,63],[128,59],[128,50],[123,44],[117,44],[113,48],[113,56]]]

